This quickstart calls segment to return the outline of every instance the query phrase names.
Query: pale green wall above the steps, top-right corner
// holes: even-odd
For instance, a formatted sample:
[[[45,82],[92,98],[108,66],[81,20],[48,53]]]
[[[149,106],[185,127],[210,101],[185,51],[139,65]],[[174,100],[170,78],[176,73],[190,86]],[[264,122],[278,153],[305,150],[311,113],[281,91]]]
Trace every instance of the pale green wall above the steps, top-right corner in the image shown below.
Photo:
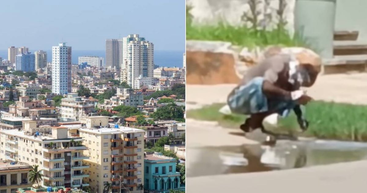
[[[336,31],[359,31],[357,43],[367,43],[366,0],[337,0]]]

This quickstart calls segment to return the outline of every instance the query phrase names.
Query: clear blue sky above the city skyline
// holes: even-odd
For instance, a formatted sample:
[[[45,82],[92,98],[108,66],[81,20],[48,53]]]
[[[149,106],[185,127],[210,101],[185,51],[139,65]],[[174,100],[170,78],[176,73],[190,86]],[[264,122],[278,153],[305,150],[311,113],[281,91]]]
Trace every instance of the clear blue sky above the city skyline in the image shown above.
[[[2,0],[0,50],[105,50],[105,39],[139,34],[155,50],[185,50],[185,0]]]

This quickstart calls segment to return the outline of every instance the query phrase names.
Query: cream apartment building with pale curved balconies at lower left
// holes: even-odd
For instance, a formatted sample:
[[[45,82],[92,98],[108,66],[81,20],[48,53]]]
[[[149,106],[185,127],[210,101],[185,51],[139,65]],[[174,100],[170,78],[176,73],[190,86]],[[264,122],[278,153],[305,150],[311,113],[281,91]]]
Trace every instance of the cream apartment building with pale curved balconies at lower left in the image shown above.
[[[67,127],[42,126],[36,121],[22,121],[23,129],[0,131],[2,160],[37,164],[43,169],[44,186],[89,186],[89,174],[83,172],[90,165],[83,164],[86,147],[81,137],[69,137]]]

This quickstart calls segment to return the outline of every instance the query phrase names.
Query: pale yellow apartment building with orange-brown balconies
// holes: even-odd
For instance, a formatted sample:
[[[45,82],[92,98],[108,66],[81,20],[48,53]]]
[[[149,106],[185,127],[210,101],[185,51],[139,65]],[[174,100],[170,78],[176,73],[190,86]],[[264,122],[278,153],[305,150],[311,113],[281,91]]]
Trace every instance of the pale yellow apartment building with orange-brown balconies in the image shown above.
[[[91,125],[106,127],[108,117],[88,117]],[[104,120],[102,120],[104,119]],[[97,121],[96,121],[97,120]],[[69,132],[72,129],[69,129]],[[73,131],[75,132],[75,131]],[[106,183],[112,184],[113,193],[140,193],[139,186],[144,179],[144,130],[129,127],[119,128],[80,128],[79,136],[85,140],[83,144],[88,148],[84,160],[91,167],[85,169],[90,174],[92,192],[103,193]],[[121,182],[121,184],[120,184]],[[120,186],[121,185],[121,186]]]

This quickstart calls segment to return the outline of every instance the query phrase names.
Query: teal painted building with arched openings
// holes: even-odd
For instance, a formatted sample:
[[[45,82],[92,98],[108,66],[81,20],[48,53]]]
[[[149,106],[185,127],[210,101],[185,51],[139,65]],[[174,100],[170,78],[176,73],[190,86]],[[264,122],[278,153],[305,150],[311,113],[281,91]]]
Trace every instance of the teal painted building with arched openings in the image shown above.
[[[180,186],[181,174],[176,172],[176,159],[161,153],[145,154],[144,189],[168,193],[170,189],[185,190]]]

